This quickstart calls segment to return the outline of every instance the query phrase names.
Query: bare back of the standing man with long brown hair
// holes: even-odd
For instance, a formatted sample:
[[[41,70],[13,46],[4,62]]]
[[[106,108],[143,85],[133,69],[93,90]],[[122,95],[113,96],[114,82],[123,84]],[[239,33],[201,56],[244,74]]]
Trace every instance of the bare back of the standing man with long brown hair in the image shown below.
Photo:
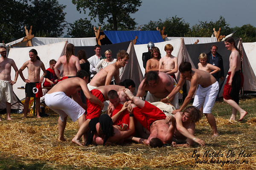
[[[63,76],[73,77],[76,76],[77,71],[81,70],[79,64],[79,58],[72,55],[70,57],[69,63],[67,64],[66,55],[61,56],[56,62],[55,66],[58,68],[62,64],[63,66]]]

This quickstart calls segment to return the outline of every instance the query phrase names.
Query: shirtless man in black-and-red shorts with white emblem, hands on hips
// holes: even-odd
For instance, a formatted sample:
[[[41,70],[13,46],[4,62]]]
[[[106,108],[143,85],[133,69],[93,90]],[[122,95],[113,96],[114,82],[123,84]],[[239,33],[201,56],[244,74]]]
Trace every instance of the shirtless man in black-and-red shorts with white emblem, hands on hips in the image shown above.
[[[44,81],[44,77],[46,76],[47,72],[44,67],[44,63],[41,62],[40,58],[38,57],[38,53],[35,49],[29,51],[30,60],[26,61],[20,68],[19,74],[21,79],[26,82],[25,86],[25,93],[26,99],[24,103],[24,118],[26,118],[28,110],[29,110],[29,101],[30,97],[34,97],[35,99],[35,109],[36,109],[36,116],[41,118],[40,114],[40,97],[43,96],[42,91],[42,83]],[[25,79],[23,76],[22,71],[27,68],[29,77]],[[40,69],[44,71],[44,74],[40,77]]]

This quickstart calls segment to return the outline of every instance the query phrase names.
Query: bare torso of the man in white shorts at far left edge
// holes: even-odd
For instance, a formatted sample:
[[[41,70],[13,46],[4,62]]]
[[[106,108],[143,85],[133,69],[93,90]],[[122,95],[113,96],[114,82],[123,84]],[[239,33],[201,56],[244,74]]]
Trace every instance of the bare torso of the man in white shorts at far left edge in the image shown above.
[[[6,80],[10,81],[11,80],[11,69],[12,66],[14,67],[15,62],[13,59],[5,58],[3,57],[0,58],[0,80]],[[15,65],[16,67],[16,65]],[[17,67],[16,67],[17,70]]]

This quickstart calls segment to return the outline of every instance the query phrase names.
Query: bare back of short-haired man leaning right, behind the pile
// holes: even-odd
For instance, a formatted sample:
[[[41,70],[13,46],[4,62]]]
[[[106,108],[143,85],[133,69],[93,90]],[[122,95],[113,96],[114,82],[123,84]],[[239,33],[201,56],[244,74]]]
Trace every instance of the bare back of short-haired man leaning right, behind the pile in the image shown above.
[[[111,65],[108,65],[107,67],[103,68],[99,73],[95,74],[93,79],[90,82],[90,85],[99,87],[102,85],[109,85],[112,78],[115,77],[117,79],[116,83],[120,82],[119,78],[119,67],[116,65],[116,63],[113,63]]]

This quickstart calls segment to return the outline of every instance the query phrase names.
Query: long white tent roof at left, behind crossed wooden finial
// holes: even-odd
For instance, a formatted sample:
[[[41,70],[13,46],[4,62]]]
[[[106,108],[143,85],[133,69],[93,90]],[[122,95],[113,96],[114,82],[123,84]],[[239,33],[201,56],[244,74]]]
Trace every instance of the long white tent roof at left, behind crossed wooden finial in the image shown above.
[[[15,40],[13,42],[9,42],[6,44],[6,46],[15,45],[18,42],[22,42],[24,39],[20,38],[18,40]],[[64,42],[67,41],[68,43],[71,43],[75,46],[94,46],[97,44],[96,37],[89,37],[89,38],[49,38],[49,37],[34,37],[32,38],[32,46],[39,46],[39,45],[48,45],[53,44],[57,42]],[[17,44],[16,46],[26,46],[26,42],[22,42],[20,44]]]

